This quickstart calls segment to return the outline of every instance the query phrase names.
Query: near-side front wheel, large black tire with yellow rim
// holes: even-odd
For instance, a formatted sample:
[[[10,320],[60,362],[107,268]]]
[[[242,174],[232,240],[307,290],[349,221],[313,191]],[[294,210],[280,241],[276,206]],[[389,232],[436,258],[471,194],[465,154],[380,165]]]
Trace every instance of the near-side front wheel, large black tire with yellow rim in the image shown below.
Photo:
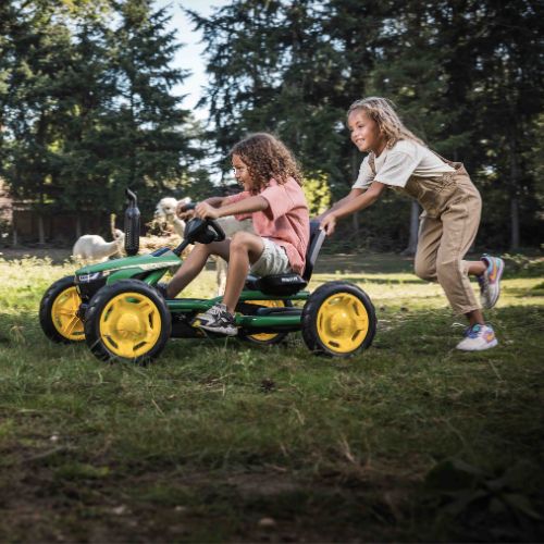
[[[172,319],[164,298],[139,280],[99,289],[85,313],[85,336],[101,360],[150,361],[164,349]]]

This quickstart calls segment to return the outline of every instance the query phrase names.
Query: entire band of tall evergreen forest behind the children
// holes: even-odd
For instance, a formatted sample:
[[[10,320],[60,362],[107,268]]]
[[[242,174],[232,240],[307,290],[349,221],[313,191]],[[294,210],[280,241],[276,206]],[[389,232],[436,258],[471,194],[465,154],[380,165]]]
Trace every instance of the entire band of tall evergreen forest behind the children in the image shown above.
[[[232,0],[188,15],[205,42],[203,121],[173,91],[188,73],[173,67],[184,29],[169,28],[171,7],[0,3],[0,177],[12,197],[40,219],[122,213],[129,186],[150,218],[158,196],[218,194],[231,146],[268,131],[299,159],[316,213],[349,190],[362,159],[347,108],[380,95],[466,164],[484,199],[477,246],[542,243],[541,2]],[[417,213],[388,191],[342,224],[335,248],[413,246]]]

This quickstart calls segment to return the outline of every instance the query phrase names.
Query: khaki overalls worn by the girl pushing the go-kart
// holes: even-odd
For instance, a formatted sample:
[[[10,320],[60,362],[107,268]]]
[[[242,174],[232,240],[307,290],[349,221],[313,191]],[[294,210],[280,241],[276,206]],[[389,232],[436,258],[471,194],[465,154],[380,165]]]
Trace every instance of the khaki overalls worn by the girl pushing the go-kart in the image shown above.
[[[420,215],[415,271],[422,280],[441,284],[455,312],[468,313],[480,309],[480,305],[462,258],[478,233],[482,199],[461,162],[435,154],[455,172],[436,177],[412,175],[399,188],[424,210]],[[369,165],[375,175],[373,153],[369,156]]]

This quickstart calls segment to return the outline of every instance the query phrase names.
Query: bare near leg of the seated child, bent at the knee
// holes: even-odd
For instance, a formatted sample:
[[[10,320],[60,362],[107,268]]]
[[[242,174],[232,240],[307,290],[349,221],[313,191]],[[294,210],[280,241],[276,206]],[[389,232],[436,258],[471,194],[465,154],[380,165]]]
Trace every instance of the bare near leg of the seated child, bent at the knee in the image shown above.
[[[262,238],[256,234],[237,232],[233,236],[228,257],[225,294],[223,304],[228,312],[234,313],[244,288],[249,264],[257,262],[264,249]]]

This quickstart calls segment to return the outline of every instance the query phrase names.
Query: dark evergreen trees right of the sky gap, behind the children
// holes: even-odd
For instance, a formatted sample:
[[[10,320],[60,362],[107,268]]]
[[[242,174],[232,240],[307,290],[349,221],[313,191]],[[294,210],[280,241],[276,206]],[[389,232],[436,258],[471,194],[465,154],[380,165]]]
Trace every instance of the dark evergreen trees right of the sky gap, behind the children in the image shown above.
[[[433,149],[466,163],[484,196],[480,244],[539,243],[542,3],[246,0],[189,13],[207,44],[202,102],[222,157],[246,132],[275,132],[338,198],[361,160],[345,111],[384,95]],[[406,246],[408,214],[386,209],[357,235]]]

